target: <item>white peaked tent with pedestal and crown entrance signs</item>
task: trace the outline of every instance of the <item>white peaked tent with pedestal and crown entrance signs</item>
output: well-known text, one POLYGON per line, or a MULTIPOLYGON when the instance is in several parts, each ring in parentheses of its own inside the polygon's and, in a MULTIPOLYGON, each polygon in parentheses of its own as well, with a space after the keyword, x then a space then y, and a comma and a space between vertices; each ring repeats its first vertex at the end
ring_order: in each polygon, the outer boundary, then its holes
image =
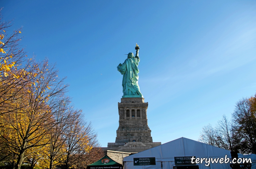
MULTIPOLYGON (((173 169, 173 166, 175 166, 174 157, 195 156, 196 158, 225 158, 225 155, 227 155, 227 158, 231 159, 230 151, 228 150, 181 137, 160 146, 127 156, 123 158, 123 161, 124 169, 173 169), (156 165, 133 165, 133 158, 146 157, 155 157, 156 165)), ((243 155, 239 154, 238 157, 243 158, 243 155)), ((199 166, 199 169, 231 169, 230 163, 210 163, 209 166, 205 166, 204 164, 205 161, 203 164, 199 163, 196 165, 199 166)))

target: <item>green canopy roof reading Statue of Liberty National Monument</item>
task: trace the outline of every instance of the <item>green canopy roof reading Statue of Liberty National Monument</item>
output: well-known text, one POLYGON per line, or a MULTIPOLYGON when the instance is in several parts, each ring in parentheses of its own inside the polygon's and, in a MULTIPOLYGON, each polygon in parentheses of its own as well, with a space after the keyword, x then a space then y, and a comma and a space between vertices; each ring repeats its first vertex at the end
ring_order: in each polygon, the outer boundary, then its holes
POLYGON ((123 165, 109 158, 107 155, 102 157, 100 160, 87 165, 87 169, 123 169, 123 165))

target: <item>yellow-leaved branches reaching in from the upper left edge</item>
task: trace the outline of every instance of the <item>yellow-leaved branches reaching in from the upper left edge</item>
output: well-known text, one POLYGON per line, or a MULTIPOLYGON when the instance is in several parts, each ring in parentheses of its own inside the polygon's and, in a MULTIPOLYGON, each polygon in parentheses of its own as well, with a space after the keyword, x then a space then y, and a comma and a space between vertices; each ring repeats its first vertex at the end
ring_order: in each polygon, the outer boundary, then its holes
POLYGON ((22 29, 9 31, 10 22, 2 21, 0 9, 0 115, 21 107, 12 107, 12 102, 23 97, 20 92, 35 80, 37 68, 33 58, 27 58, 20 46, 22 29))

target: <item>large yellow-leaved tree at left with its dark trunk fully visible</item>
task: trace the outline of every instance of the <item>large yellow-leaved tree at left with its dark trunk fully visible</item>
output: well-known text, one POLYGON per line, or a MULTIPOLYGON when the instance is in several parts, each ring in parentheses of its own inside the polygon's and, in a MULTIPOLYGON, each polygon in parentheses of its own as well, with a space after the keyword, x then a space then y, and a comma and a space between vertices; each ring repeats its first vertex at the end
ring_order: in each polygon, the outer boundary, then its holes
POLYGON ((25 158, 49 143, 54 113, 66 98, 67 85, 63 84, 64 79, 58 78, 54 65, 48 65, 45 60, 38 63, 34 71, 35 81, 20 90, 23 96, 8 102, 17 109, 3 114, 3 126, 0 128, 6 146, 17 155, 15 169, 20 168, 25 158))

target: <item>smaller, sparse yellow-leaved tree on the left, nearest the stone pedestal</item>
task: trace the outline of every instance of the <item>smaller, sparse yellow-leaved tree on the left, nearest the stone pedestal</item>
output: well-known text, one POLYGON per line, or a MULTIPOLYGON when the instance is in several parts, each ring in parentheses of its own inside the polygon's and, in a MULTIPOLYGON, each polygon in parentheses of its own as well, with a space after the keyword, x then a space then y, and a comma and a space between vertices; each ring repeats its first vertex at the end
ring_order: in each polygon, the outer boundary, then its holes
POLYGON ((65 154, 61 158, 61 164, 65 169, 81 164, 94 146, 98 144, 97 134, 92 124, 83 120, 80 110, 73 110, 73 118, 65 130, 65 154))

